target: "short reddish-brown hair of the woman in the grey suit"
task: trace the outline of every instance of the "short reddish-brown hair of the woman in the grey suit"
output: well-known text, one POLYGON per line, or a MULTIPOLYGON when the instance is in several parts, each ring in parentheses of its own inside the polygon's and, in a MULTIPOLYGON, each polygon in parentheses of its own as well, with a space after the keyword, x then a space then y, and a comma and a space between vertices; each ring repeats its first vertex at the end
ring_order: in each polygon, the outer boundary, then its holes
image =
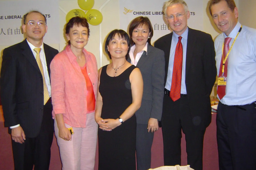
POLYGON ((137 27, 143 26, 143 25, 147 26, 148 30, 150 30, 150 38, 147 39, 147 42, 149 44, 151 44, 151 39, 153 37, 153 27, 152 27, 151 21, 150 21, 150 19, 148 19, 148 17, 139 16, 137 18, 134 18, 132 20, 132 22, 130 23, 129 35, 131 37, 131 45, 134 45, 134 42, 132 39, 133 30, 136 29, 137 27))

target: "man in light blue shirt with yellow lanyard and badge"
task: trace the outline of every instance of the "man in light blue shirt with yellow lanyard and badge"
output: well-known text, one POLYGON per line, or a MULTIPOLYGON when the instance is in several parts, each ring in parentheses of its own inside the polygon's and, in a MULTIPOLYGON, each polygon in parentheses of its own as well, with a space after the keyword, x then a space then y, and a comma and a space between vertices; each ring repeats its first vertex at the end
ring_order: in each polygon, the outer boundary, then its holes
POLYGON ((256 169, 256 30, 238 22, 233 0, 211 0, 223 32, 215 40, 220 170, 256 169))

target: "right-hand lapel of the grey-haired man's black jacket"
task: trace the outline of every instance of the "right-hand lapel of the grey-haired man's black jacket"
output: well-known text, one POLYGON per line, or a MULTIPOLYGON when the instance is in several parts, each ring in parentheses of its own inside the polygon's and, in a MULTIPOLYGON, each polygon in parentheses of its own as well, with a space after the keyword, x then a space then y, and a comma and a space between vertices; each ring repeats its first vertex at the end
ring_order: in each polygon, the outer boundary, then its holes
POLYGON ((188 71, 190 70, 190 63, 193 60, 193 51, 195 51, 194 46, 196 44, 196 37, 194 37, 193 30, 188 28, 187 34, 187 52, 186 52, 186 76, 188 75, 188 71))

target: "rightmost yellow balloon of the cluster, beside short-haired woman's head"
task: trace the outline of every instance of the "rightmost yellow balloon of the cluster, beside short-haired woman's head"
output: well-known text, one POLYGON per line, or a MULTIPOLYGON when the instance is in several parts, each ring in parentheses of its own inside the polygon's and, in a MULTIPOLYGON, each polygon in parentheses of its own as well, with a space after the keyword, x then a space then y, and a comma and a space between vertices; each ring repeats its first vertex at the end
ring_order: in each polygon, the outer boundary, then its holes
POLYGON ((96 9, 91 9, 86 13, 86 19, 90 25, 97 26, 102 22, 103 16, 96 9))

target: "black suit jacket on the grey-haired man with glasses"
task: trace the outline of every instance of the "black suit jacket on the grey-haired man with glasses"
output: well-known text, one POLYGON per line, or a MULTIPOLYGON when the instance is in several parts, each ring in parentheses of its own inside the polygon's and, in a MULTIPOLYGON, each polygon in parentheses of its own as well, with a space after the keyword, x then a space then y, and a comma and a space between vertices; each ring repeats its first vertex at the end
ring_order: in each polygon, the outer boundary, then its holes
MULTIPOLYGON (((170 45, 173 33, 159 38, 155 47, 164 51, 165 81, 167 77, 170 45)), ((176 44, 174 44, 176 45, 176 44)), ((216 80, 214 41, 211 35, 188 28, 185 84, 191 118, 200 129, 205 129, 211 122, 209 95, 216 80)))

